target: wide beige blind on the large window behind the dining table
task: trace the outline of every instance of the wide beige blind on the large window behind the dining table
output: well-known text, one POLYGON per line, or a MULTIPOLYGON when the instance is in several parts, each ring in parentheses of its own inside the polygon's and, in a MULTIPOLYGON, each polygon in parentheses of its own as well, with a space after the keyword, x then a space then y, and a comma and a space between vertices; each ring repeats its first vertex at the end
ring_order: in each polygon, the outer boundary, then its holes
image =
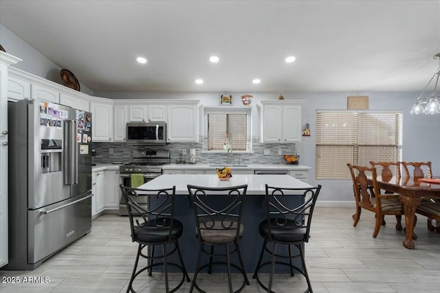
POLYGON ((347 163, 401 161, 401 112, 317 111, 316 179, 350 180, 347 163))

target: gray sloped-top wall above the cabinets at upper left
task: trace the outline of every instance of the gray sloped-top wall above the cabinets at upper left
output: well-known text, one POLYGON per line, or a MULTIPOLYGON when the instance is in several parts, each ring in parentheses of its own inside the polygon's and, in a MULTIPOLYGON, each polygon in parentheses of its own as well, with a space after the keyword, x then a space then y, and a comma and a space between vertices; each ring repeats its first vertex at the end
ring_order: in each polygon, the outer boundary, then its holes
MULTIPOLYGON (((43 56, 39 51, 36 51, 36 49, 28 45, 28 43, 25 43, 3 25, 0 25, 0 44, 6 53, 23 60, 16 65, 12 65, 12 67, 61 84, 61 67, 56 65, 49 58, 43 56)), ((80 78, 78 78, 78 80, 80 80, 80 78)), ((81 82, 80 88, 81 92, 87 93, 87 95, 94 95, 94 92, 81 82)))

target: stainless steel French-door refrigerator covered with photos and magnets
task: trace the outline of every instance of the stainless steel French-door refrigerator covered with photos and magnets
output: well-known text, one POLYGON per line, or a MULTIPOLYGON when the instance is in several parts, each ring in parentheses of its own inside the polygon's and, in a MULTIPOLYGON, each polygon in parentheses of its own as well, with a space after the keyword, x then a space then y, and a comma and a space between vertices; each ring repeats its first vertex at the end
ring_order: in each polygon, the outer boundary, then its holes
POLYGON ((91 113, 8 102, 9 263, 34 270, 91 229, 91 113))

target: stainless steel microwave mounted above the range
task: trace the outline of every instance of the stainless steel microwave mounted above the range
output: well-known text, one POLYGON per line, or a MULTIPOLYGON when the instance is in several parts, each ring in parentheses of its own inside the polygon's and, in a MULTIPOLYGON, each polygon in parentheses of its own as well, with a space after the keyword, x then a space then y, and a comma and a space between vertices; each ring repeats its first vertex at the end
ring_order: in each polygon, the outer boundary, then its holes
POLYGON ((145 145, 165 145, 166 123, 129 122, 126 124, 126 141, 145 145))

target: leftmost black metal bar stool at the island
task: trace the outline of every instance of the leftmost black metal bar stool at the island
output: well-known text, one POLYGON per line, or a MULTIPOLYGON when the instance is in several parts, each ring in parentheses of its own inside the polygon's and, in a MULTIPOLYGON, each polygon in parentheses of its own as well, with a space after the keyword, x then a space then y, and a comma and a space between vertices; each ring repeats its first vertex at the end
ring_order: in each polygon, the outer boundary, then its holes
POLYGON ((190 277, 186 272, 178 242, 179 237, 183 233, 184 226, 179 220, 174 218, 175 186, 168 189, 137 189, 120 185, 120 189, 122 190, 122 196, 124 196, 129 213, 131 239, 139 244, 135 266, 126 292, 135 292, 133 289, 134 279, 145 270, 149 270, 149 275, 151 276, 151 272, 156 266, 163 266, 166 293, 177 291, 185 279, 187 282, 190 281, 190 277), (155 202, 158 203, 153 207, 149 204, 150 201, 148 200, 148 204, 141 206, 135 200, 139 196, 155 196, 155 202), (170 251, 168 251, 167 247, 169 244, 174 245, 170 251), (162 255, 155 256, 155 246, 162 246, 162 255), (152 250, 151 254, 148 253, 149 248, 152 250), (144 249, 146 250, 145 253, 144 249), (175 253, 176 250, 180 259, 179 264, 167 261, 167 257, 175 253), (148 264, 144 268, 137 270, 140 257, 147 259, 148 264), (155 262, 158 259, 159 262, 155 262), (174 266, 182 272, 180 283, 171 290, 168 286, 168 266, 174 266))

